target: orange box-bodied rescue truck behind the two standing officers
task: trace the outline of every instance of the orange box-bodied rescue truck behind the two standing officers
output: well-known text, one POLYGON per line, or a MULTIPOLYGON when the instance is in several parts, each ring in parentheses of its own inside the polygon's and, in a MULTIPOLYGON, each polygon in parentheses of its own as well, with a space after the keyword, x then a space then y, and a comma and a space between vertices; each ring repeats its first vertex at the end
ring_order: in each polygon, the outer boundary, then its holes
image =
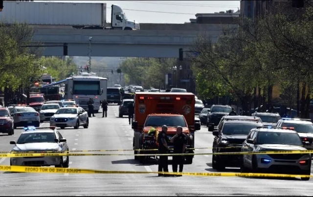
MULTIPOLYGON (((145 136, 148 136, 152 128, 161 132, 163 125, 168 127, 169 140, 176 134, 176 128, 181 126, 183 133, 188 137, 186 153, 194 153, 195 131, 200 130, 201 125, 195 122, 195 95, 193 93, 135 92, 134 97, 134 122, 132 123, 134 154, 147 153, 143 146, 145 136)), ((174 147, 170 142, 168 146, 174 147)), ((185 156, 186 163, 191 164, 193 157, 194 155, 185 156)), ((140 162, 142 158, 143 156, 135 156, 135 160, 140 162)))

